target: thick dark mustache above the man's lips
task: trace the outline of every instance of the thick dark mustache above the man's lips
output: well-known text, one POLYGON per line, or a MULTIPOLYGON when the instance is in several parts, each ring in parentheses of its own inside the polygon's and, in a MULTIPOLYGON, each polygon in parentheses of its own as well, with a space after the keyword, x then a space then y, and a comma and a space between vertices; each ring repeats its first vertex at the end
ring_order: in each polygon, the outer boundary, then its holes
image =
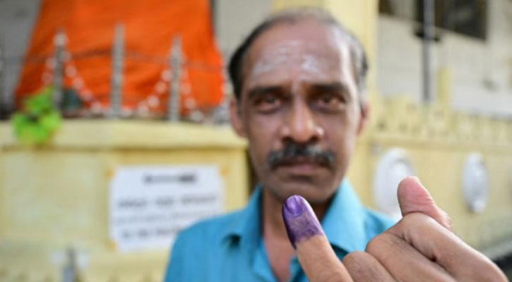
POLYGON ((274 169, 284 164, 290 164, 298 158, 308 159, 320 166, 332 167, 335 161, 335 153, 312 144, 287 142, 282 149, 268 153, 267 163, 270 168, 274 169))

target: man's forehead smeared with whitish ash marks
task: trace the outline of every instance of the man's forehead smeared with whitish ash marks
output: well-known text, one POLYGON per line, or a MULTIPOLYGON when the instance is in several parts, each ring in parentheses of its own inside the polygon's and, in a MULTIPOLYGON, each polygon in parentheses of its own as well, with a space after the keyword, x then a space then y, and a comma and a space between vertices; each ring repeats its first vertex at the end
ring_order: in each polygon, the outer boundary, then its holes
POLYGON ((242 71, 249 84, 297 75, 344 80, 344 75, 352 76, 349 53, 345 37, 334 25, 315 20, 278 23, 255 40, 242 71))

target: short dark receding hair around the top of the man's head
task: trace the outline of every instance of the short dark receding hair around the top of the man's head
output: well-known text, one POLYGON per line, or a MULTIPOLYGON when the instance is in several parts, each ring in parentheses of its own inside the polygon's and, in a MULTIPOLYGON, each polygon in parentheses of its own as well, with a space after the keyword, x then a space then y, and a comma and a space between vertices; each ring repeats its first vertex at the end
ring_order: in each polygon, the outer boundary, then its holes
POLYGON ((364 94, 365 92, 365 80, 368 72, 368 61, 367 55, 364 52, 364 48, 359 42, 359 39, 352 34, 352 32, 348 31, 343 27, 343 25, 338 22, 330 13, 321 9, 321 8, 292 8, 287 9, 285 11, 280 11, 278 13, 273 14, 272 16, 263 20, 248 37, 239 45, 239 47, 234 51, 230 59, 230 63, 228 65, 228 73, 231 78, 231 82, 233 85, 234 95, 238 99, 242 94, 242 85, 244 84, 243 79, 243 66, 244 59, 249 51, 251 45, 256 41, 256 39, 266 30, 269 30, 270 27, 281 23, 294 24, 299 23, 302 20, 317 20, 319 23, 326 23, 327 25, 333 25, 338 27, 338 30, 342 35, 346 38, 346 43, 350 49, 350 58, 352 59, 352 65, 355 71, 355 80, 357 82, 357 87, 360 94, 364 94))

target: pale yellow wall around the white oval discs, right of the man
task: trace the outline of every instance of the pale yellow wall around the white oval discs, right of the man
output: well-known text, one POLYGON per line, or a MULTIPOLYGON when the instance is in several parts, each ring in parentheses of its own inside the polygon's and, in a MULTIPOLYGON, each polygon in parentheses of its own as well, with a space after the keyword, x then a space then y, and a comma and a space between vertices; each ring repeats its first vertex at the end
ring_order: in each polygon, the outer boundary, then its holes
POLYGON ((511 252, 512 122, 443 109, 417 106, 406 97, 388 99, 369 135, 359 140, 349 178, 362 201, 374 206, 376 163, 388 149, 403 148, 460 237, 491 257, 511 252), (479 213, 470 211, 462 192, 463 166, 471 152, 482 154, 489 173, 489 200, 479 213))

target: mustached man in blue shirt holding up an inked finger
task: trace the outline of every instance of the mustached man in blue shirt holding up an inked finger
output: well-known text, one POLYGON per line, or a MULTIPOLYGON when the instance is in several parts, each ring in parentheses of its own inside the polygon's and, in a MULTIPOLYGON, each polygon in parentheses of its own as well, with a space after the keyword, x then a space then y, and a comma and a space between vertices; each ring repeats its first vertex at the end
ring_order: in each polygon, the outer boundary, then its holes
POLYGON ((400 183, 404 219, 395 226, 362 207, 344 176, 367 121, 367 63, 361 44, 328 13, 302 8, 268 18, 237 49, 229 71, 236 96, 232 126, 249 140, 260 185, 245 209, 178 236, 166 282, 453 281, 458 276, 449 280, 442 272, 453 267, 504 279, 482 255, 461 251, 469 247, 454 241, 448 217, 415 178, 400 183), (408 236, 410 228, 425 231, 426 238, 408 236), (455 258, 415 251, 429 243, 472 263, 443 268, 436 259, 455 258), (389 262, 391 255, 400 260, 389 262), (344 257, 349 259, 342 264, 344 257), (432 261, 435 266, 427 263, 432 261))

